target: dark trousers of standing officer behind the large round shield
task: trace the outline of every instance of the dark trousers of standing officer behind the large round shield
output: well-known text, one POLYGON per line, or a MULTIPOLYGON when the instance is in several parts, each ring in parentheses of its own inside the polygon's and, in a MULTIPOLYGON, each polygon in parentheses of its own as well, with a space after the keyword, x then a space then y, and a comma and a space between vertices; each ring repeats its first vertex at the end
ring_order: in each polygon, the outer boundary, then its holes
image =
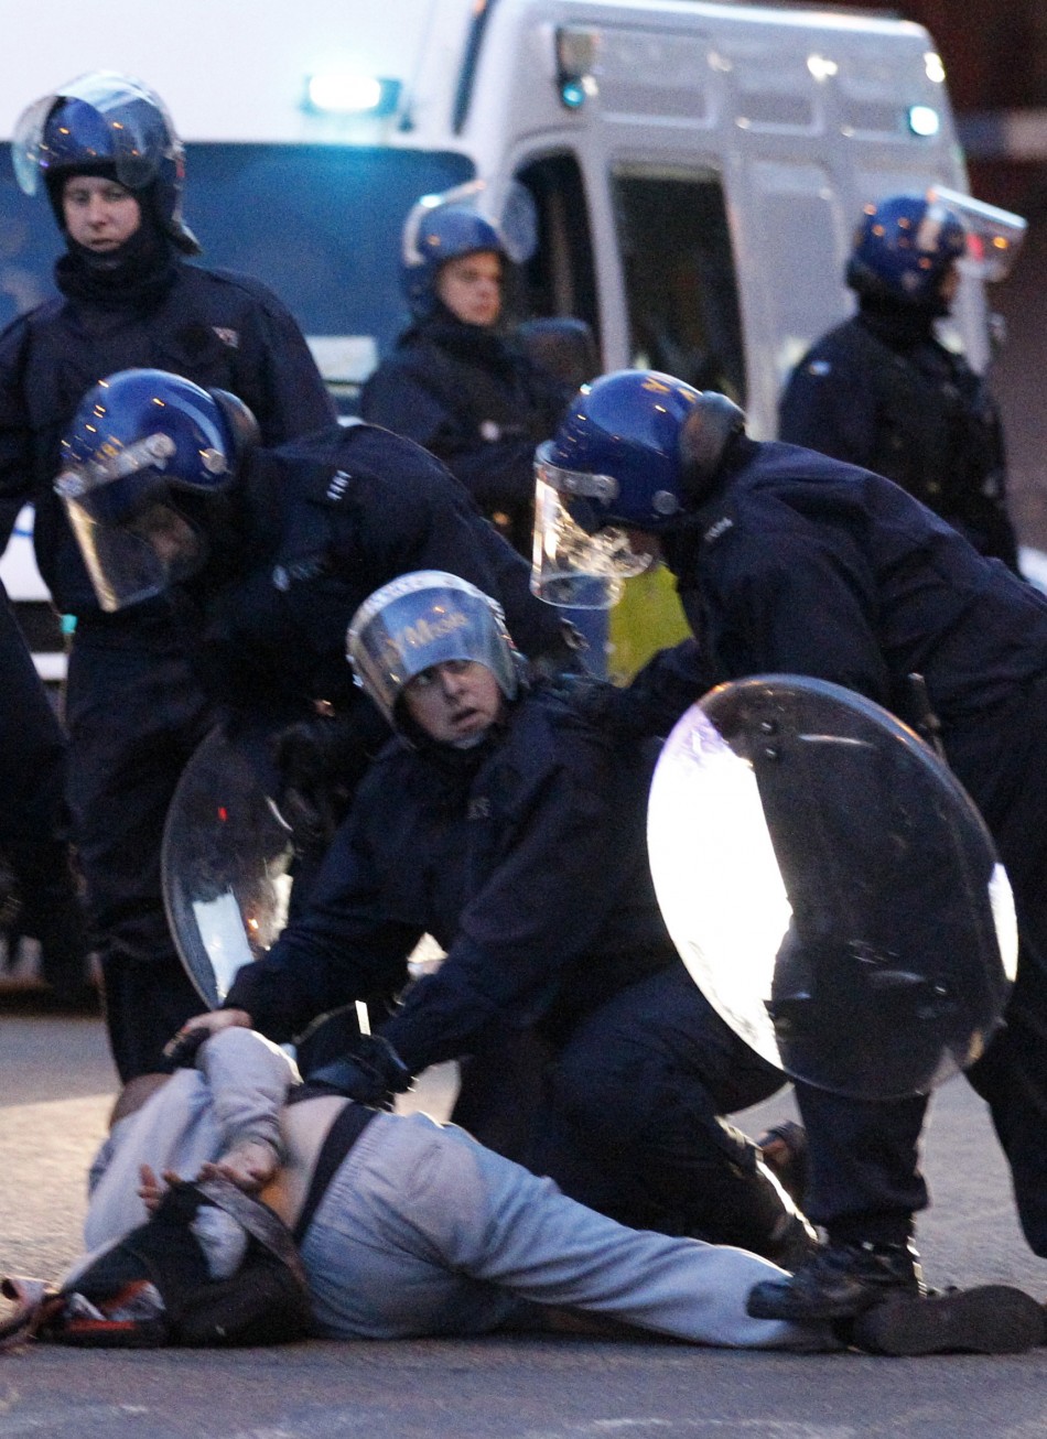
MULTIPOLYGON (((1047 1258, 1047 681, 948 734, 1015 895, 1021 950, 1004 1027, 968 1079, 989 1105, 1030 1248, 1047 1258)), ((808 1128, 806 1212, 842 1242, 894 1242, 927 1204, 917 1167, 926 1098, 845 1099, 796 1085, 808 1128)))

